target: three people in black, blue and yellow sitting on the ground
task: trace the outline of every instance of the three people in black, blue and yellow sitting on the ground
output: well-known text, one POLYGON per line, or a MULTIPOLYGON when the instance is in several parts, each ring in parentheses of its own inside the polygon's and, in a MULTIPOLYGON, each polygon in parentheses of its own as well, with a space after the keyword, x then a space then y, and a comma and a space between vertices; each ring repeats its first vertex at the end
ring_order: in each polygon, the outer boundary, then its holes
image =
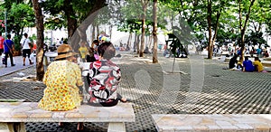
POLYGON ((238 54, 234 54, 234 56, 229 60, 229 69, 247 72, 262 72, 264 71, 264 66, 258 57, 255 57, 252 62, 248 59, 248 56, 246 56, 245 61, 240 62, 238 61, 238 54))

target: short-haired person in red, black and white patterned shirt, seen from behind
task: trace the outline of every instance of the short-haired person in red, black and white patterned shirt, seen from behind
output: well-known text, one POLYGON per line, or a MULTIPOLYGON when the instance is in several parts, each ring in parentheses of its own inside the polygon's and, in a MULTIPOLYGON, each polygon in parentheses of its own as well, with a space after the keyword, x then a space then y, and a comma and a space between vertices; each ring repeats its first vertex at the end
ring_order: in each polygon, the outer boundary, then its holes
POLYGON ((115 47, 111 42, 104 42, 98 46, 98 53, 99 60, 89 65, 89 103, 114 106, 121 98, 117 94, 121 72, 119 67, 110 61, 116 54, 115 47))

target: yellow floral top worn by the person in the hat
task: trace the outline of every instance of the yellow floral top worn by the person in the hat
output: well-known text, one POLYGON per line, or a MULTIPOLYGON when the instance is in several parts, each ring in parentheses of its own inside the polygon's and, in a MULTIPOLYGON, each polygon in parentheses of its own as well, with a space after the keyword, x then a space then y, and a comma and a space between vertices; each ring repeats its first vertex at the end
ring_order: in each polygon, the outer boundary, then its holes
POLYGON ((39 108, 50 111, 70 110, 80 106, 79 88, 83 84, 79 66, 70 61, 53 61, 43 77, 46 85, 39 108))

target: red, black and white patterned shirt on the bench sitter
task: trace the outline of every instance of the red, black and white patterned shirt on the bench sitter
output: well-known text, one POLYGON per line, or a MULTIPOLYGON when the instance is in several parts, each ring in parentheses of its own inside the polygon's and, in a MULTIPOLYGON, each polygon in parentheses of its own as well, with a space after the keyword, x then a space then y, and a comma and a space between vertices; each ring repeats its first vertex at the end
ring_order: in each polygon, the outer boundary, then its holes
POLYGON ((89 65, 90 103, 110 102, 117 99, 117 87, 121 72, 112 61, 101 60, 89 65))

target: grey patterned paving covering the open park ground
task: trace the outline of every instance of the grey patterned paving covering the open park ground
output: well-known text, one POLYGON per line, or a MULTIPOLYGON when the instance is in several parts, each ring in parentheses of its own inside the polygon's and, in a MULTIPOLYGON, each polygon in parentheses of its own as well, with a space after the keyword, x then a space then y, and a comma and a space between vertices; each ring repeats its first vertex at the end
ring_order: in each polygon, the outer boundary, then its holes
MULTIPOLYGON (((270 114, 271 74, 222 70, 228 64, 201 56, 176 59, 159 54, 138 58, 120 52, 115 59, 122 70, 119 92, 134 99, 135 123, 127 131, 155 131, 152 114, 270 114)), ((35 67, 24 69, 34 74, 35 67)), ((0 99, 39 101, 45 86, 41 82, 13 82, 17 72, 0 77, 0 99)), ((85 131, 106 131, 107 123, 84 123, 85 131)), ((75 131, 76 123, 27 123, 28 131, 75 131)))

